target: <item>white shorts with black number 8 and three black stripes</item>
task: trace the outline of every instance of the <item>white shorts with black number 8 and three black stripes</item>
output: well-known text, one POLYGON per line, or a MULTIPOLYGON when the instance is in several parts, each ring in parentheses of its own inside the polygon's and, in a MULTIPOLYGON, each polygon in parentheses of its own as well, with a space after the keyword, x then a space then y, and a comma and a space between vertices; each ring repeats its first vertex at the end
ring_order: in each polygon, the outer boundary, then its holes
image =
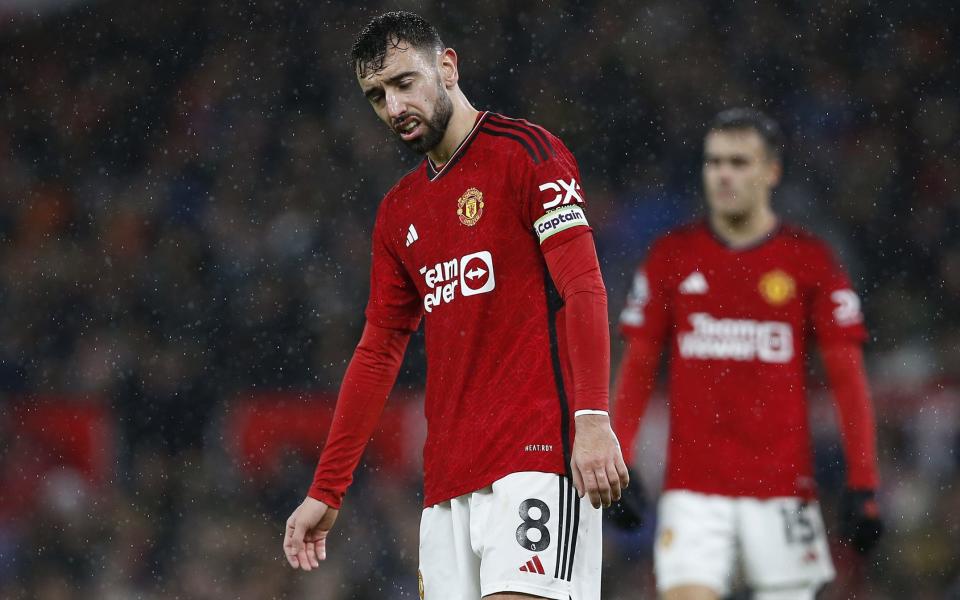
POLYGON ((424 509, 420 597, 599 600, 601 527, 600 510, 567 477, 512 473, 424 509))

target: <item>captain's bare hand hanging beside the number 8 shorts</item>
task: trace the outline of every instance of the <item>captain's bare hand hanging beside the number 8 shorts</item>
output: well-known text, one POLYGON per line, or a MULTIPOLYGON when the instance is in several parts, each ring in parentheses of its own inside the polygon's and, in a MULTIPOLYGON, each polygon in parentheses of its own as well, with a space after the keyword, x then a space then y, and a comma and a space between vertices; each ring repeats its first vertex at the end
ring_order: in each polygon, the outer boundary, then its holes
POLYGON ((576 417, 577 430, 570 457, 573 485, 580 497, 590 496, 594 508, 610 506, 630 483, 620 443, 610 429, 607 415, 576 417))

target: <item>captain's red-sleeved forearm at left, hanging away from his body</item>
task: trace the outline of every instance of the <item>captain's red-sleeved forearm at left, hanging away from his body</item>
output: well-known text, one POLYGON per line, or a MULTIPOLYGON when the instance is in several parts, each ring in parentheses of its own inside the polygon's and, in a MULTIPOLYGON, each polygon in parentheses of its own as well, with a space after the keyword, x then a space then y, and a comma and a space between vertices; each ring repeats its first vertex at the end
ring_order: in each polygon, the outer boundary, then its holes
POLYGON ((309 495, 339 508, 373 435, 410 333, 367 324, 347 367, 309 495))

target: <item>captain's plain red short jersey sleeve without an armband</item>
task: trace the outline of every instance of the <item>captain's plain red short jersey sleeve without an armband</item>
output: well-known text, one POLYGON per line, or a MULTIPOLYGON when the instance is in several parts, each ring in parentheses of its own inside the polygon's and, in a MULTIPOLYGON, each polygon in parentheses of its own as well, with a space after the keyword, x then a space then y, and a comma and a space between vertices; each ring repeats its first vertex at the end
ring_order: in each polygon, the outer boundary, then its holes
POLYGON ((385 206, 381 205, 373 227, 367 321, 387 329, 416 331, 423 314, 420 295, 394 251, 386 223, 385 206))

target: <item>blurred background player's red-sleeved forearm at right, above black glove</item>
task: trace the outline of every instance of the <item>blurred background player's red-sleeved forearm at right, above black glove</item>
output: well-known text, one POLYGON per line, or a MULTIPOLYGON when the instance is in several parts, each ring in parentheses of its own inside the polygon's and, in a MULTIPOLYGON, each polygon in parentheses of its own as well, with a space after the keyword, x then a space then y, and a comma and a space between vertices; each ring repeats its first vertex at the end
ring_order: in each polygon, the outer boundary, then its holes
POLYGON ((843 436, 847 484, 853 489, 875 489, 879 479, 876 424, 863 351, 856 344, 835 344, 824 347, 822 354, 843 436))

